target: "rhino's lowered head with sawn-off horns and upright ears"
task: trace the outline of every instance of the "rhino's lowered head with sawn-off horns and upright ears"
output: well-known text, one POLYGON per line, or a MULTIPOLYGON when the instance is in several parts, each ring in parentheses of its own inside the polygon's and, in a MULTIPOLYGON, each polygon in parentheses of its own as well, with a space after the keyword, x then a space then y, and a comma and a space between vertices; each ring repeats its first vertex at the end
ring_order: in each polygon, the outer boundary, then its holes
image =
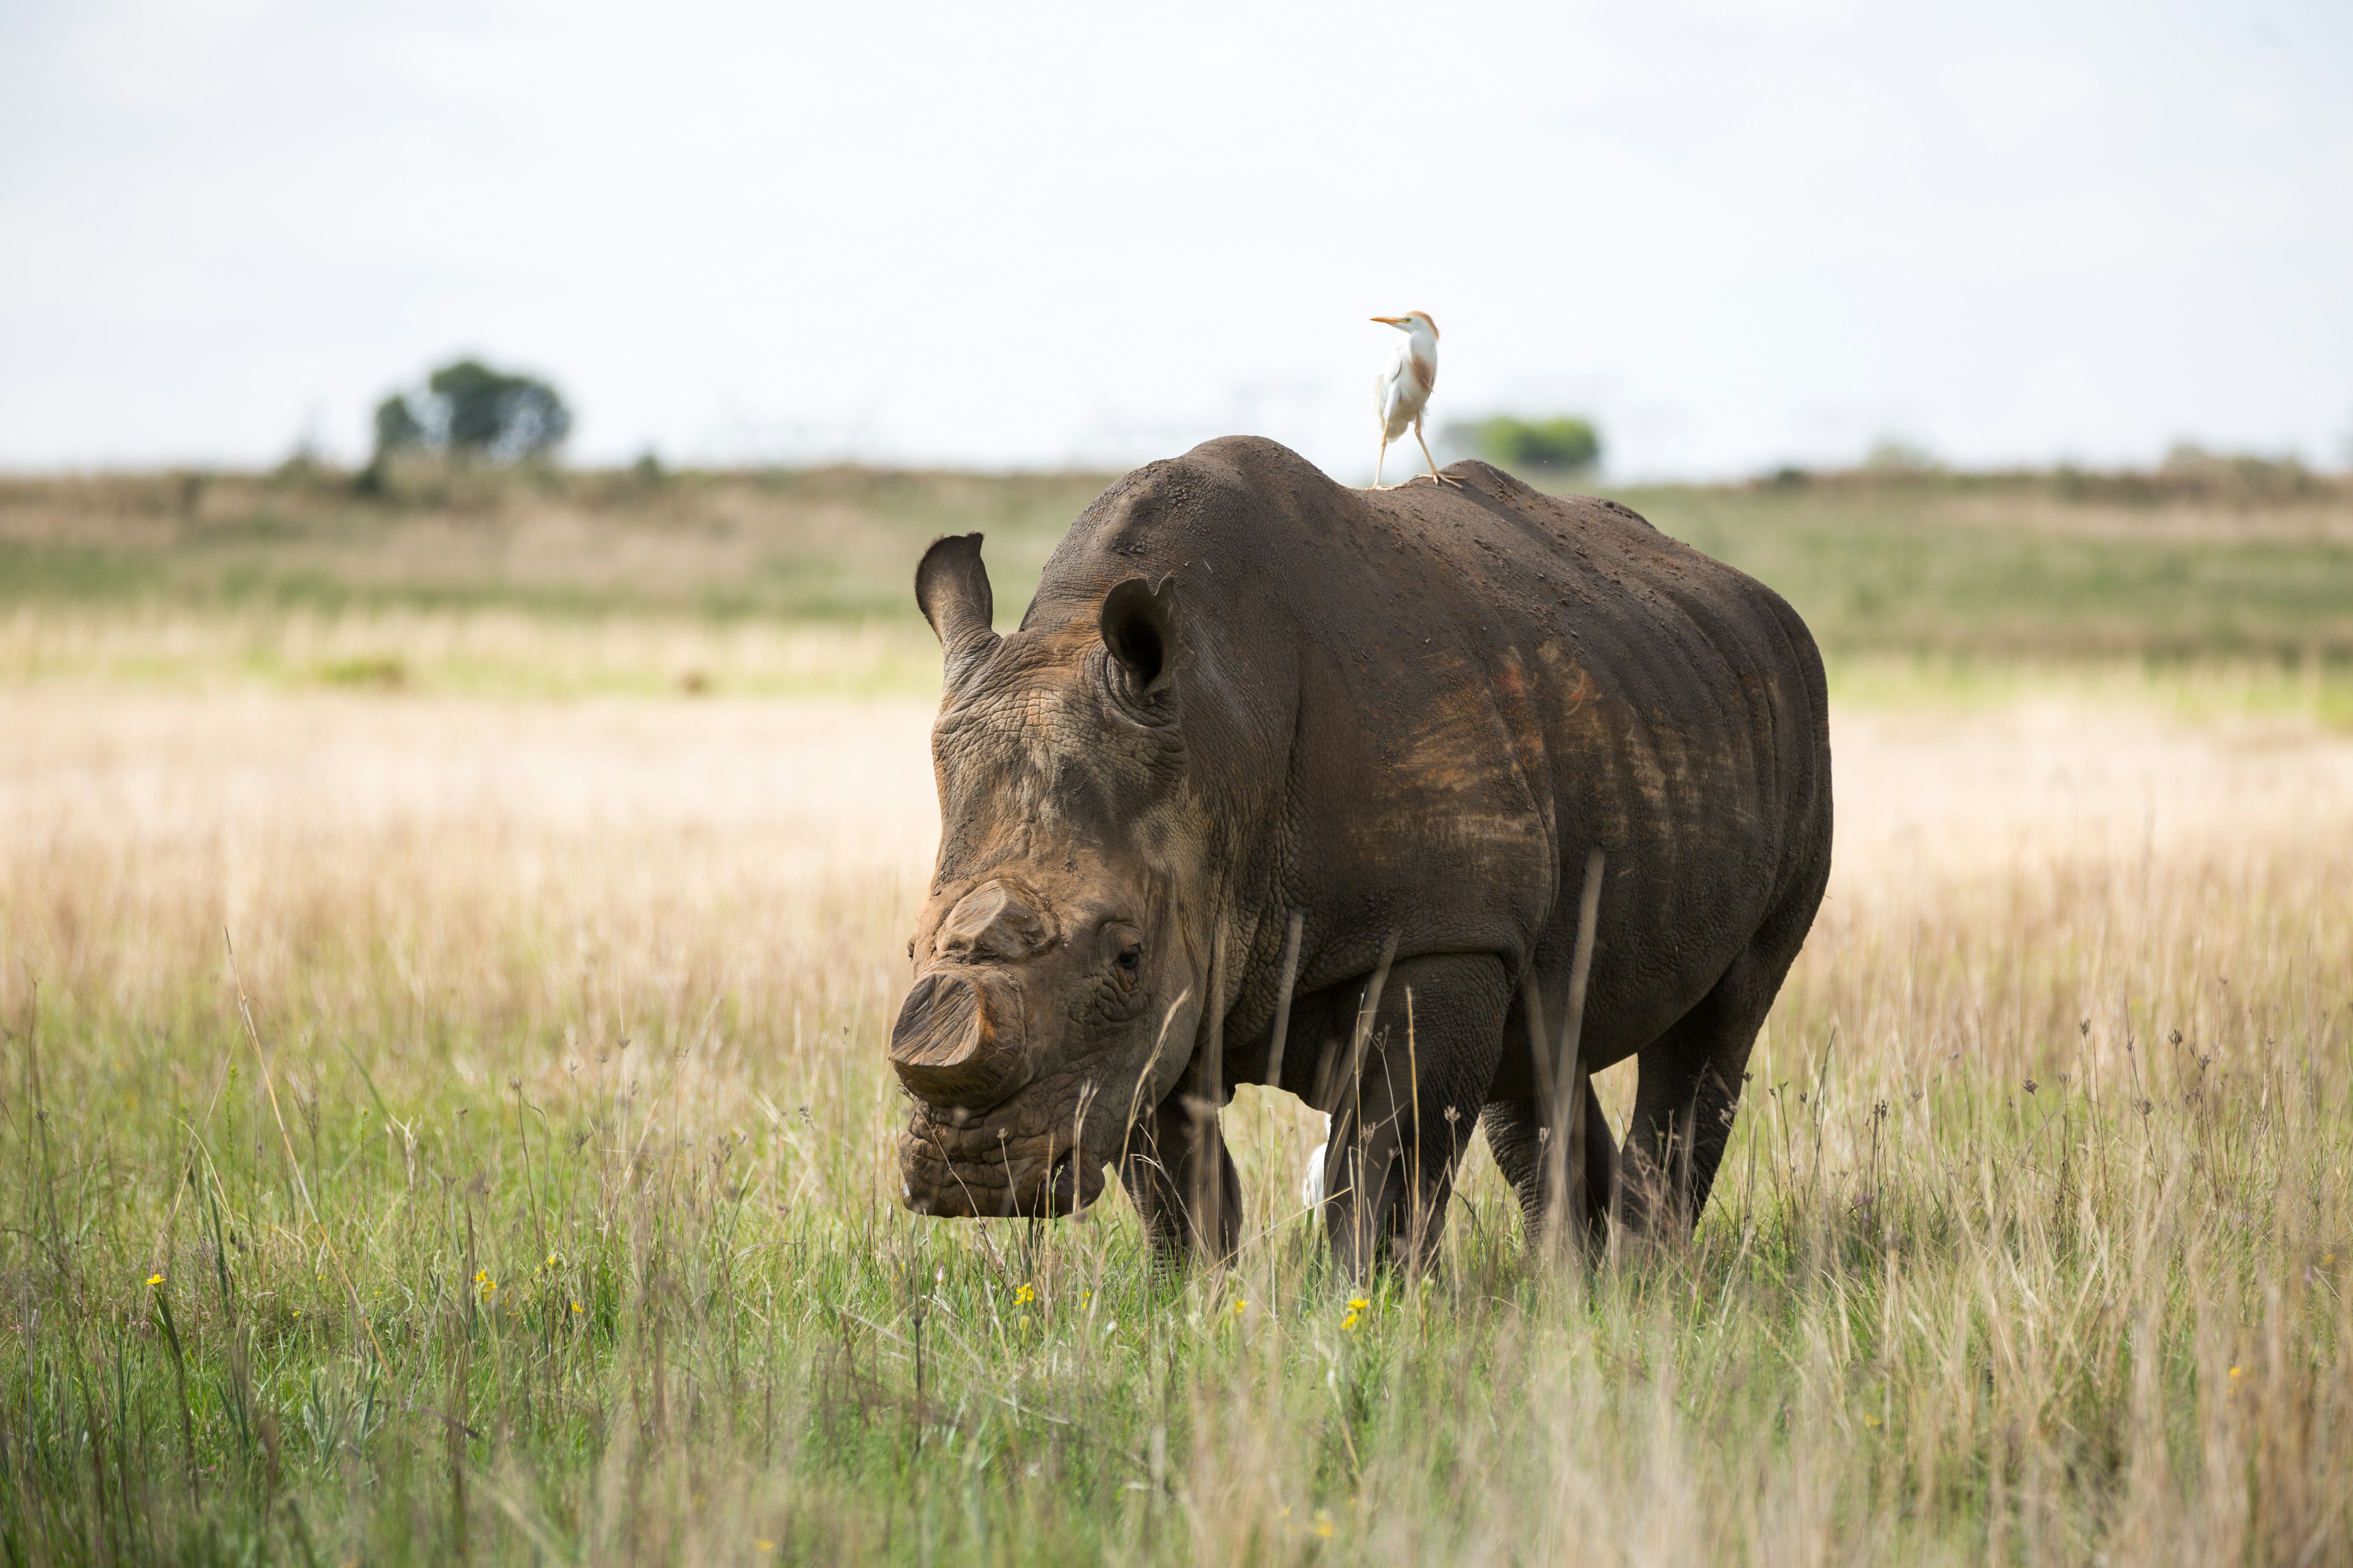
POLYGON ((946 656, 932 726, 941 844, 889 1060, 918 1213, 1071 1213, 1193 1056, 1205 832, 1186 820, 1176 592, 991 630, 981 536, 944 538, 915 599, 946 656))

